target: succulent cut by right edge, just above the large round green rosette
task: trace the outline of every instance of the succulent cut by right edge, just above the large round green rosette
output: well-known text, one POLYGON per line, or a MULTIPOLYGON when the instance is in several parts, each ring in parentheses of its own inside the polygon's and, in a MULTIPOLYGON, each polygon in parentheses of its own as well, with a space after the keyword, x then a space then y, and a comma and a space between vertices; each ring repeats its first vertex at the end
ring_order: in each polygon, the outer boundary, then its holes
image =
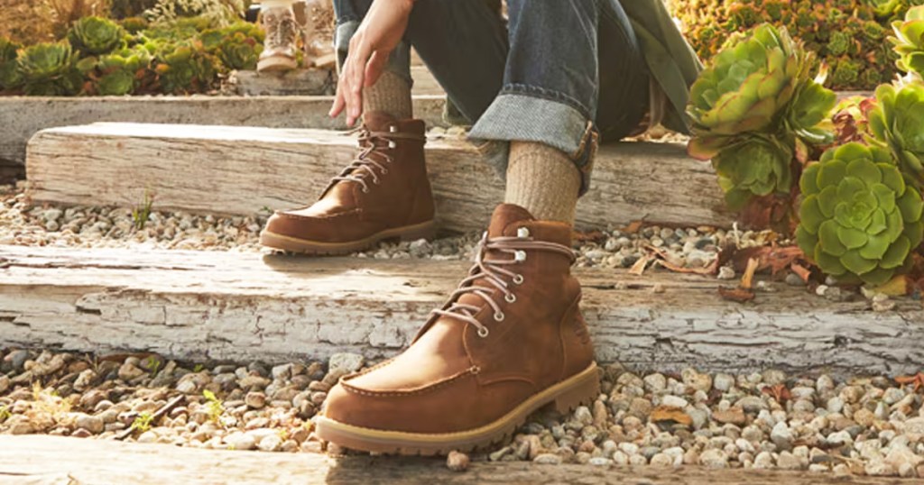
POLYGON ((911 184, 924 187, 924 85, 881 85, 868 116, 872 138, 894 153, 911 184))

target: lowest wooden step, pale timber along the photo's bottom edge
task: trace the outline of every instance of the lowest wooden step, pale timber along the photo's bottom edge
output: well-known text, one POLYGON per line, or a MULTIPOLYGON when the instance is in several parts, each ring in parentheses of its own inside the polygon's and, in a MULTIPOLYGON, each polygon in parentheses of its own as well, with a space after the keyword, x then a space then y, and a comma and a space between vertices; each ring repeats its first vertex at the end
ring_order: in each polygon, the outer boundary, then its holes
MULTIPOLYGON (((7 485, 619 483, 624 485, 885 485, 904 480, 701 467, 590 467, 473 462, 450 471, 440 458, 261 453, 178 448, 60 436, 0 436, 0 481, 7 485), (143 464, 143 465, 142 465, 143 464)), ((910 483, 908 481, 907 483, 910 483)))

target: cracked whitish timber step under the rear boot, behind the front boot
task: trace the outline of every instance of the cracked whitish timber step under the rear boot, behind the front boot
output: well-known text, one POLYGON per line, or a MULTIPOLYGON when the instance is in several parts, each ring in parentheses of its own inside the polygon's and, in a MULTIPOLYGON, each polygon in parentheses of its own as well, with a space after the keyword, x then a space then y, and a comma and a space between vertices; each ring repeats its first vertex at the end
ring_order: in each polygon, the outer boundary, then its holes
MULTIPOLYGON (((345 351, 384 358, 407 346, 467 269, 461 261, 0 246, 0 342, 193 360, 279 362, 345 351)), ((778 291, 739 304, 703 276, 602 269, 577 276, 601 361, 840 376, 924 367, 919 301, 873 312, 866 301, 832 302, 777 283, 778 291)))

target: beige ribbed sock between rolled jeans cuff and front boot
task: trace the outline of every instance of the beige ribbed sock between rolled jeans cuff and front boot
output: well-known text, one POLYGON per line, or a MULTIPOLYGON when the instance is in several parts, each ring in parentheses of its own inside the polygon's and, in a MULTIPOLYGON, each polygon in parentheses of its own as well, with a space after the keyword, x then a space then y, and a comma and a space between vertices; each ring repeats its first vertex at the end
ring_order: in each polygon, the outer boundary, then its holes
POLYGON ((541 221, 574 224, 581 176, 565 152, 545 143, 511 141, 505 202, 541 221))

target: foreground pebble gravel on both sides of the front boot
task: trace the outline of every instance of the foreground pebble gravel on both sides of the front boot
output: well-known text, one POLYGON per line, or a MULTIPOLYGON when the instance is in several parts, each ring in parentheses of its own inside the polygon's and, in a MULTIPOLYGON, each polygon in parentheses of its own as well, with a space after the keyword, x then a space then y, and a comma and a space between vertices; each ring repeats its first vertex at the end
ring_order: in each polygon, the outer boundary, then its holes
MULTIPOLYGON (((373 364, 353 354, 191 364, 10 348, 0 350, 0 433, 320 453, 311 418, 326 392, 373 364)), ((453 454, 448 466, 464 469, 470 459, 924 477, 924 408, 913 384, 779 370, 643 374, 619 364, 603 365, 601 382, 591 406, 540 411, 508 443, 453 454)))

